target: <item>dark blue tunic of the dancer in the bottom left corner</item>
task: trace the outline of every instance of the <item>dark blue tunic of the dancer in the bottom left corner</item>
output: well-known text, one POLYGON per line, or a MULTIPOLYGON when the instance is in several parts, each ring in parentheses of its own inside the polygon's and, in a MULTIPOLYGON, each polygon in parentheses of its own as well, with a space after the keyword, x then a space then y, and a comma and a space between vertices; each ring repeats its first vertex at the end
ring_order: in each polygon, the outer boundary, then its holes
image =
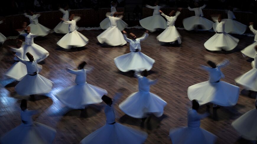
POLYGON ((21 115, 21 120, 23 121, 22 123, 25 125, 32 125, 33 120, 32 120, 32 115, 36 115, 38 113, 37 110, 22 110, 20 115, 21 115))

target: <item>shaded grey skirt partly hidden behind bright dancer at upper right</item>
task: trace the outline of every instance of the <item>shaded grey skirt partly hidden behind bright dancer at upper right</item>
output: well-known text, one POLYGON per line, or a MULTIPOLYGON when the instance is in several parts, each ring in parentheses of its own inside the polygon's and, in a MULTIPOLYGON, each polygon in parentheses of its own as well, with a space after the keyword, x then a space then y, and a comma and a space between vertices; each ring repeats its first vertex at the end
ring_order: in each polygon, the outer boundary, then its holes
MULTIPOLYGON (((238 21, 232 20, 232 19, 223 19, 222 21, 226 21, 225 22, 225 32, 226 33, 244 34, 247 29, 246 25, 244 25, 238 21)), ((213 29, 217 28, 218 23, 219 22, 215 22, 213 24, 213 29)))

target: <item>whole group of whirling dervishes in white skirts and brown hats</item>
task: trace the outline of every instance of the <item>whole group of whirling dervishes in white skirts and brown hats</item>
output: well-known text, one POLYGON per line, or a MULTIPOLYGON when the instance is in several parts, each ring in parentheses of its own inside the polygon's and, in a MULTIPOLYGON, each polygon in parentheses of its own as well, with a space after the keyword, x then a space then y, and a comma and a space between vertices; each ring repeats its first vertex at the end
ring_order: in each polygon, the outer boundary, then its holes
MULTIPOLYGON (((156 38, 160 42, 168 42, 181 44, 181 36, 175 27, 175 21, 182 12, 182 8, 177 11, 171 11, 165 15, 158 6, 158 1, 155 6, 146 5, 150 9, 154 9, 153 16, 141 19, 139 22, 142 27, 147 29, 144 34, 137 38, 133 33, 124 30, 128 25, 122 20, 123 12, 116 11, 116 3, 111 2, 111 12, 106 14, 106 19, 100 23, 100 27, 105 29, 97 40, 103 44, 110 46, 122 46, 129 43, 130 53, 114 58, 116 67, 122 72, 135 71, 134 76, 138 80, 138 92, 129 95, 123 102, 119 104, 119 108, 126 115, 134 118, 142 119, 142 125, 149 115, 161 117, 164 113, 164 107, 167 105, 161 97, 150 92, 150 86, 157 83, 156 80, 147 78, 148 71, 152 69, 155 62, 154 59, 148 57, 141 52, 141 41, 144 41, 149 36, 149 32, 154 32, 157 29, 165 29, 156 38), (167 21, 162 17, 165 17, 167 21)), ((204 47, 210 51, 230 51, 234 49, 239 40, 232 37, 228 33, 243 34, 247 27, 244 24, 235 21, 233 9, 227 12, 228 19, 223 19, 222 15, 212 16, 215 21, 212 22, 204 18, 202 9, 206 4, 199 6, 194 3, 195 8, 188 6, 188 10, 194 11, 195 16, 188 17, 183 20, 183 25, 186 30, 209 30, 214 29, 213 37, 204 43, 204 47)), ((54 28, 56 33, 65 34, 57 44, 64 49, 73 47, 83 47, 88 44, 89 39, 83 34, 77 32, 77 21, 79 16, 70 14, 68 8, 59 9, 64 15, 60 18, 61 22, 54 28)), ((30 24, 22 25, 19 30, 20 35, 25 37, 25 44, 18 40, 16 47, 8 46, 11 51, 15 52, 15 63, 7 70, 6 76, 13 78, 18 82, 15 90, 18 95, 30 95, 33 99, 36 95, 45 94, 51 91, 53 82, 41 76, 39 73, 42 70, 42 65, 38 62, 46 59, 49 56, 43 47, 34 43, 34 37, 43 37, 50 32, 50 29, 39 24, 38 17, 40 14, 34 14, 32 11, 27 11, 25 17, 30 19, 30 24)), ((0 24, 3 21, 0 21, 0 24)), ((252 69, 235 78, 235 83, 241 85, 245 89, 257 91, 257 31, 250 23, 250 30, 255 34, 254 43, 243 49, 243 56, 253 58, 252 69)), ((0 33, 0 43, 3 44, 6 37, 0 33)), ((208 66, 201 68, 209 73, 209 80, 188 87, 188 98, 192 101, 192 107, 188 109, 187 119, 188 125, 179 128, 170 129, 169 137, 173 144, 213 144, 217 140, 217 136, 200 128, 201 119, 209 116, 207 111, 205 114, 198 114, 198 109, 201 105, 213 104, 213 109, 222 107, 231 107, 237 104, 240 94, 240 88, 236 85, 229 84, 221 79, 225 78, 221 69, 229 64, 229 60, 225 59, 219 64, 212 61, 207 61, 208 66)), ((147 139, 147 133, 116 123, 115 110, 113 104, 117 102, 121 93, 116 93, 114 98, 107 96, 107 90, 90 85, 87 83, 87 74, 93 71, 93 67, 87 67, 86 62, 78 65, 76 70, 66 69, 67 72, 76 75, 76 85, 70 86, 58 92, 55 96, 64 105, 72 109, 84 109, 89 104, 99 104, 105 102, 106 106, 104 113, 106 116, 106 124, 95 132, 87 135, 81 140, 81 144, 141 144, 147 139), (74 98, 75 96, 75 98, 74 98)), ((2 144, 51 144, 56 135, 56 130, 34 122, 32 115, 39 113, 39 110, 27 110, 27 100, 22 100, 21 108, 21 125, 1 136, 2 144), (15 137, 15 138, 14 138, 15 137)), ((257 140, 257 100, 255 108, 240 116, 232 122, 232 127, 245 139, 257 140)))

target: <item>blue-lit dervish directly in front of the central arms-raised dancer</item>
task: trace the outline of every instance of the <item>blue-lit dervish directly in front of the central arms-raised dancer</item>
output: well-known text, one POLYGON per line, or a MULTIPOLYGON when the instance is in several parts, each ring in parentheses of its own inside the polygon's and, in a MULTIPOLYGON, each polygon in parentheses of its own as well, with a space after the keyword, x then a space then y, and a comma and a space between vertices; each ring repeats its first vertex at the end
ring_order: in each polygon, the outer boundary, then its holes
POLYGON ((125 114, 143 120, 152 114, 161 117, 163 109, 167 105, 167 102, 162 100, 161 97, 150 92, 150 86, 154 85, 157 80, 150 80, 147 76, 147 70, 144 70, 142 75, 140 72, 135 72, 139 91, 132 93, 119 105, 119 108, 125 114))

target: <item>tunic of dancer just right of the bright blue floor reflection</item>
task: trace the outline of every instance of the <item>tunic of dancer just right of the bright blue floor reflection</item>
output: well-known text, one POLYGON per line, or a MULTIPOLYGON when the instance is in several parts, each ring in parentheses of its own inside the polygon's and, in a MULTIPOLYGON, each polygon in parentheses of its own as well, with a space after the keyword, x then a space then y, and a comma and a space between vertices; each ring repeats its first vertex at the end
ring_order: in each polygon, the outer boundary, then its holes
POLYGON ((91 70, 92 69, 67 69, 69 73, 76 75, 75 83, 77 85, 85 85, 87 83, 87 72, 90 72, 91 70))

